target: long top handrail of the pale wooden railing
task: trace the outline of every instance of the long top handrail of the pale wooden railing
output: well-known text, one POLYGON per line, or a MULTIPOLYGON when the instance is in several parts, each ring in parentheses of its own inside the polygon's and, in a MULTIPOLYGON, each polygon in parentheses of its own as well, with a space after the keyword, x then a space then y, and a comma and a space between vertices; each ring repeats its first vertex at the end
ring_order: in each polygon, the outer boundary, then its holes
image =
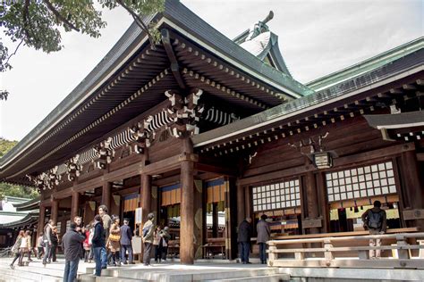
POLYGON ((293 243, 325 243, 326 241, 349 241, 349 240, 369 240, 369 239, 401 239, 401 238, 424 238, 424 232, 418 233, 398 233, 398 234, 382 234, 382 235, 365 235, 365 236, 327 236, 320 238, 308 239, 287 239, 287 240, 270 240, 267 245, 285 245, 293 243))

